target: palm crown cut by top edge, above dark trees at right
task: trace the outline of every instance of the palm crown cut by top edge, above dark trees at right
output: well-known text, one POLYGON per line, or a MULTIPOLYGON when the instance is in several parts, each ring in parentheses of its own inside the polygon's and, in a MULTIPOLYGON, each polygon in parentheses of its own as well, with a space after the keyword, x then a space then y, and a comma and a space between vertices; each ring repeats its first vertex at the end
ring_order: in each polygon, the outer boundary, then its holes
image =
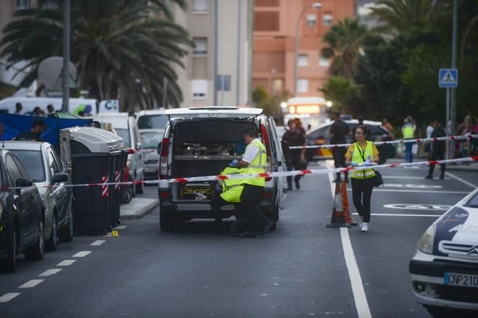
POLYGON ((427 30, 450 10, 450 0, 381 0, 372 8, 372 15, 381 22, 376 31, 397 35, 427 30))

